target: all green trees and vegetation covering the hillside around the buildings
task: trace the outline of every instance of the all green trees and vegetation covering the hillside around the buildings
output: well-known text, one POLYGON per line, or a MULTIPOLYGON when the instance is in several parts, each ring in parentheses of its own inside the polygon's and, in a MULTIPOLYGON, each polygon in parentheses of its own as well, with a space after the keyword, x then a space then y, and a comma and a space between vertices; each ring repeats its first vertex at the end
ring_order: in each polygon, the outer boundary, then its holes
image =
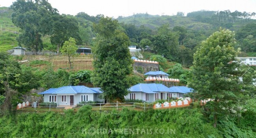
POLYGON ((229 10, 186 16, 138 13, 117 19, 84 12, 72 16, 60 15, 47 0, 17 0, 0 7, 0 137, 254 138, 255 69, 236 59, 256 56, 254 16, 229 10), (48 60, 21 62, 25 56, 7 53, 17 45, 33 53, 62 53, 69 67, 56 69, 48 60), (143 60, 159 62, 161 71, 180 79, 179 85, 193 88, 194 93, 186 95, 194 100, 191 106, 147 111, 94 111, 90 105, 61 112, 16 109, 17 102, 28 97, 40 99, 38 92, 67 85, 100 87, 108 102, 125 102, 129 87, 145 83, 139 70, 132 72, 128 45, 140 48, 143 60), (72 68, 78 46, 92 48, 92 71, 72 68), (198 103, 207 99, 206 105, 198 103), (130 132, 134 129, 139 132, 130 132))

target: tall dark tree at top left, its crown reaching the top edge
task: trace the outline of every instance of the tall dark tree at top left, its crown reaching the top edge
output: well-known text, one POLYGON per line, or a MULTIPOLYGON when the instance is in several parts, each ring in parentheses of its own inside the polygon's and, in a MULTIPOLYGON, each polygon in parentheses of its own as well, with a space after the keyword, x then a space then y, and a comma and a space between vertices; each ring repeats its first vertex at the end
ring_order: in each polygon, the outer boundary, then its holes
POLYGON ((22 30, 17 38, 19 44, 34 52, 42 50, 41 36, 49 31, 50 16, 57 14, 58 10, 47 0, 17 0, 11 9, 14 11, 12 22, 22 30))

